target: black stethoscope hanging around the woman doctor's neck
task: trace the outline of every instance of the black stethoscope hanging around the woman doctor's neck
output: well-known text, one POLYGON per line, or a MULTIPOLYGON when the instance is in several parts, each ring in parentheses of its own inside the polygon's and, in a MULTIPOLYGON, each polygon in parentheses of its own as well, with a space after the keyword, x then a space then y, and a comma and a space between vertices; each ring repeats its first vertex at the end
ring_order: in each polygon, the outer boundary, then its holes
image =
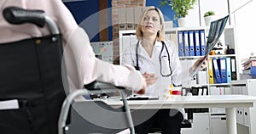
MULTIPOLYGON (((160 54, 159 54, 159 61, 160 61, 160 74, 164 77, 167 77, 167 76, 170 76, 172 75, 172 68, 171 68, 171 61, 170 61, 170 54, 169 54, 169 51, 166 47, 166 43, 161 41, 162 42, 162 48, 161 48, 161 51, 160 51, 160 54), (166 53, 167 53, 167 56, 168 56, 168 64, 169 64, 169 70, 170 70, 170 74, 168 75, 163 75, 162 73, 162 64, 161 64, 161 54, 163 53, 163 50, 164 50, 164 47, 166 48, 166 53)), ((136 66, 134 67, 136 70, 140 70, 140 66, 139 66, 139 62, 138 62, 138 54, 137 54, 137 49, 138 49, 138 46, 139 46, 139 41, 137 41, 137 47, 136 47, 136 66)), ((165 57, 165 56, 163 56, 165 57)))

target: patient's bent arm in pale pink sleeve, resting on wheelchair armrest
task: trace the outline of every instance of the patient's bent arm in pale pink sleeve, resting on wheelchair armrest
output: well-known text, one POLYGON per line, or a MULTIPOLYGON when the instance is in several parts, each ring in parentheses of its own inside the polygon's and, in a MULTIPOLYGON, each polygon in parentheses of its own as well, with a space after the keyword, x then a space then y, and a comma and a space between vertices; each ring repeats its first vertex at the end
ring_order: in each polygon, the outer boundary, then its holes
POLYGON ((69 37, 65 47, 65 58, 67 75, 76 88, 81 88, 92 81, 104 81, 118 87, 134 89, 138 93, 145 91, 143 76, 133 67, 109 64, 96 59, 89 38, 82 28, 73 31, 69 37), (140 89, 142 90, 139 92, 140 89))

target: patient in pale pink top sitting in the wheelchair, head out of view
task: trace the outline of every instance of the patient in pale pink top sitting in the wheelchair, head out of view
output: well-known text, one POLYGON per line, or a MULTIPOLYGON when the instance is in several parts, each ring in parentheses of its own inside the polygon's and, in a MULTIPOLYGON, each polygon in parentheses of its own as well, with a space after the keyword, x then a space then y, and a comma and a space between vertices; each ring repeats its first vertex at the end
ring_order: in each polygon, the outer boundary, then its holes
POLYGON ((3 19, 3 8, 17 6, 26 9, 41 9, 51 19, 55 20, 61 30, 70 90, 80 89, 84 84, 97 80, 110 82, 119 87, 134 89, 139 94, 145 92, 146 82, 143 76, 133 67, 108 64, 96 59, 87 34, 82 28, 79 28, 73 15, 61 0, 1 0, 0 5, 0 43, 20 41, 33 36, 49 35, 46 27, 38 28, 32 24, 10 25, 3 19))

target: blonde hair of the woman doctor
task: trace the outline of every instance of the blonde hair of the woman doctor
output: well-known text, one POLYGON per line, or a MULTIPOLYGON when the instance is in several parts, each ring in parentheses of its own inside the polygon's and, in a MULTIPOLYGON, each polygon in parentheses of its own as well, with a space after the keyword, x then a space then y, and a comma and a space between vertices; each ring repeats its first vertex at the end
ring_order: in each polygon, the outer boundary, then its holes
POLYGON ((137 36, 137 39, 141 39, 143 38, 143 31, 142 31, 142 25, 143 25, 143 19, 145 17, 145 15, 148 13, 148 11, 156 11, 159 16, 160 16, 160 25, 162 25, 162 28, 160 30, 160 33, 158 33, 158 36, 157 36, 157 40, 158 41, 164 41, 165 40, 165 20, 164 20, 164 16, 162 14, 162 12, 160 11, 159 8, 155 8, 154 6, 150 6, 150 7, 147 7, 144 11, 143 11, 143 14, 141 14, 140 16, 140 22, 139 24, 137 25, 137 29, 136 29, 136 36, 137 36))

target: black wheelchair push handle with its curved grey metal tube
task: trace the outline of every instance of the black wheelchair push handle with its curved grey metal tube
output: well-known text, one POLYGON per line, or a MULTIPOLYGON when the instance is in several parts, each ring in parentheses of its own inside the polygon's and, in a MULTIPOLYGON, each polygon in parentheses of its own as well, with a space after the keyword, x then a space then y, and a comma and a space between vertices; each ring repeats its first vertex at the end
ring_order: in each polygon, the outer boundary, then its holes
POLYGON ((55 21, 51 20, 43 10, 30 10, 18 7, 9 7, 3 9, 3 17, 10 24, 20 25, 24 23, 32 23, 38 27, 48 25, 52 35, 60 34, 58 26, 55 21))

